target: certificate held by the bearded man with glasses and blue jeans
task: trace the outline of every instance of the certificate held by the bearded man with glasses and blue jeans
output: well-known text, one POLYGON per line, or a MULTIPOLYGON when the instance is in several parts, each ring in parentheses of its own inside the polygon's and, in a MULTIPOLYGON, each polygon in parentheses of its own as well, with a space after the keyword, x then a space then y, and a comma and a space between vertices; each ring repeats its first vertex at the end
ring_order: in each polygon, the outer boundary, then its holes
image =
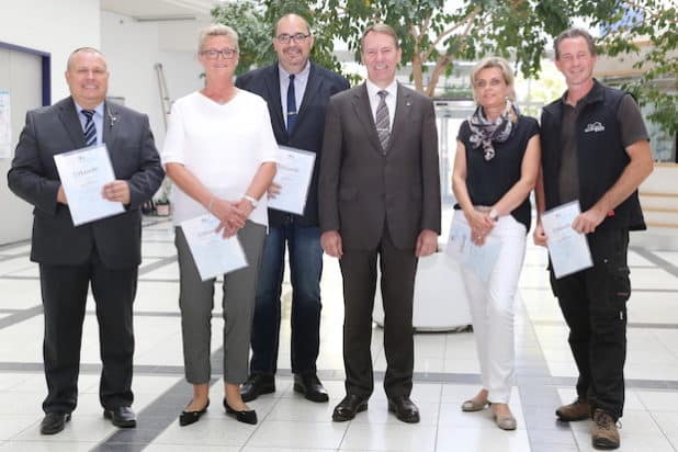
POLYGON ((280 146, 278 171, 273 182, 279 184, 281 189, 275 197, 269 197, 269 207, 304 215, 315 161, 315 152, 280 146))

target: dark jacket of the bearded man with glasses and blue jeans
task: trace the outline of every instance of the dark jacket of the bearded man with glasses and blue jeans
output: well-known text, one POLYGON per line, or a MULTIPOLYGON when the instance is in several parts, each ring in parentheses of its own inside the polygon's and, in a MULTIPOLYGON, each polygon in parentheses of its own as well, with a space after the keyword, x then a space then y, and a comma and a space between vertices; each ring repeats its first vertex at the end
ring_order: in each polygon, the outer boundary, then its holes
MULTIPOLYGON (((348 80, 312 63, 306 91, 304 91, 304 99, 292 136, 287 135, 287 127, 282 113, 278 63, 238 77, 236 86, 261 95, 268 102, 273 133, 279 145, 316 152, 316 163, 308 188, 304 216, 293 215, 293 217, 294 223, 300 226, 318 226, 318 168, 325 129, 325 111, 331 95, 349 89, 348 80)), ((272 227, 283 226, 285 217, 289 215, 292 214, 269 208, 269 225, 272 227)))

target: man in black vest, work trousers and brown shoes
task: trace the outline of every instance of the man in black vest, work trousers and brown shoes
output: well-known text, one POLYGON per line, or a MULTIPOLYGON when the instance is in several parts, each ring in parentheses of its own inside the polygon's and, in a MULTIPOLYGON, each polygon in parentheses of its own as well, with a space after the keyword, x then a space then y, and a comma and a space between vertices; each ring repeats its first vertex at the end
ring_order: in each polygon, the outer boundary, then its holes
POLYGON ((556 410, 561 420, 594 417, 595 448, 617 449, 623 414, 626 301, 631 295, 629 230, 645 229, 637 188, 653 161, 643 118, 633 98, 594 79, 596 47, 584 30, 554 43, 567 91, 542 113, 542 171, 536 184, 534 242, 546 245, 544 211, 578 200, 572 227, 586 234, 594 265, 551 286, 569 327, 579 371, 577 400, 556 410))

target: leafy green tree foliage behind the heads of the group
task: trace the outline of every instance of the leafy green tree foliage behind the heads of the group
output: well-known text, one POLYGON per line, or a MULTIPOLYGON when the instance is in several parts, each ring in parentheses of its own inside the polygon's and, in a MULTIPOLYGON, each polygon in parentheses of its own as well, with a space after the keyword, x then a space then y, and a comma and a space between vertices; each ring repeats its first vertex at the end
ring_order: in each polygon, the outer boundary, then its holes
MULTIPOLYGON (((428 95, 434 94, 441 77, 451 74, 453 61, 488 54, 510 57, 526 78, 535 77, 553 36, 578 19, 591 30, 606 31, 600 49, 611 56, 637 53, 634 43, 639 38, 651 41, 651 50, 635 64, 643 70, 642 78, 628 89, 641 104, 655 105, 651 120, 674 133, 678 129, 676 0, 262 0, 235 4, 257 11, 258 26, 268 30, 265 43, 253 49, 253 64, 273 60, 273 22, 287 12, 306 18, 316 36, 312 57, 335 69, 339 69, 332 55, 335 39, 347 42, 359 59, 362 31, 370 23, 385 22, 400 36, 403 64, 411 67, 415 89, 428 95), (674 80, 673 93, 671 87, 668 92, 660 89, 659 79, 674 80)), ((240 32, 248 27, 238 29, 238 21, 252 15, 230 18, 240 32)))

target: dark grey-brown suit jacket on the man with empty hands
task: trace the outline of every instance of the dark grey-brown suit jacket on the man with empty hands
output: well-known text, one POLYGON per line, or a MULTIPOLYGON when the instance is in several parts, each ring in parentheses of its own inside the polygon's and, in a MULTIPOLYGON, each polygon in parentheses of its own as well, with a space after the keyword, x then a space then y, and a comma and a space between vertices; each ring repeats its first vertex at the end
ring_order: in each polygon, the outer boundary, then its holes
POLYGON ((422 229, 440 234, 436 113, 430 99, 398 84, 384 155, 366 86, 331 98, 320 162, 320 230, 339 230, 344 249, 374 249, 384 222, 399 249, 422 229))

